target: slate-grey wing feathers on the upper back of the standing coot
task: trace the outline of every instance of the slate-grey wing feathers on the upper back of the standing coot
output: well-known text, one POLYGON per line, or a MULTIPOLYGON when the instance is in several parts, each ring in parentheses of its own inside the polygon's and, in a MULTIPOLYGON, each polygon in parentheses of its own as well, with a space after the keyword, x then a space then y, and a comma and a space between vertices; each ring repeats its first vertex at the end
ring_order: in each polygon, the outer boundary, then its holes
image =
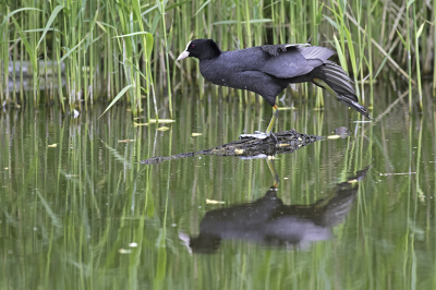
POLYGON ((280 78, 307 74, 335 55, 329 48, 307 45, 262 46, 261 49, 268 56, 261 71, 280 78))

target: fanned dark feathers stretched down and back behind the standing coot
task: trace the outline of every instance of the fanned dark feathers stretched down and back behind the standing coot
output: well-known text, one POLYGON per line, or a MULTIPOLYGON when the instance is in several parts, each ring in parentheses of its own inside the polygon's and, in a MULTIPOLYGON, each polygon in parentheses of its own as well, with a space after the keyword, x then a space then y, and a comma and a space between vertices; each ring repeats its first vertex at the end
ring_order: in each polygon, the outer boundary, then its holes
POLYGON ((359 104, 353 81, 340 65, 332 61, 327 61, 324 65, 313 70, 311 74, 316 85, 336 95, 340 102, 372 119, 366 108, 359 104))

